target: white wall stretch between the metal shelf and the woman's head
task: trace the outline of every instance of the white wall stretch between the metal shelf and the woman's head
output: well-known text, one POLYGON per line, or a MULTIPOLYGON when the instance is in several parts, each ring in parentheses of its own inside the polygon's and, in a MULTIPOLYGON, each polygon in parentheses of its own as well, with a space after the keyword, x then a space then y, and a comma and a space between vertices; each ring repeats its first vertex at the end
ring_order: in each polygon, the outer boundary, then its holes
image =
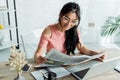
MULTIPOLYGON (((55 23, 61 7, 68 0, 16 0, 18 22, 22 32, 45 28, 55 23)), ((73 0, 69 0, 73 1, 73 0)))

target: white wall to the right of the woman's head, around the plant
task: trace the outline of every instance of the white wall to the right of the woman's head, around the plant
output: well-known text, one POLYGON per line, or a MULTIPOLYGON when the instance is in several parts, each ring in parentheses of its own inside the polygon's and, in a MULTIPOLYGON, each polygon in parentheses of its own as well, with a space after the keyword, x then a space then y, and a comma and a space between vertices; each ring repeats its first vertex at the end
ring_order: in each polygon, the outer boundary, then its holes
MULTIPOLYGON (((101 42, 101 26, 108 16, 120 14, 120 0, 81 0, 82 7, 82 37, 84 42, 101 42), (89 23, 94 23, 94 27, 89 27, 89 23)), ((115 36, 114 36, 115 37, 115 36)), ((118 37, 118 36, 117 36, 118 37)), ((104 42, 120 42, 120 39, 113 40, 110 38, 104 42)))

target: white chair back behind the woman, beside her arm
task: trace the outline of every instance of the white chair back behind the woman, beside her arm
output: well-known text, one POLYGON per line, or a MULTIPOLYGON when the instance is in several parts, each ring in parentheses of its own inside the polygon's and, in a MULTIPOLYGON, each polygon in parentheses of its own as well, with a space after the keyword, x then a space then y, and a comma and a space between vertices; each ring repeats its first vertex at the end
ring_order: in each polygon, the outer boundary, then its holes
POLYGON ((27 34, 21 34, 22 49, 26 54, 26 58, 33 58, 34 53, 38 47, 40 36, 43 29, 33 30, 27 34))

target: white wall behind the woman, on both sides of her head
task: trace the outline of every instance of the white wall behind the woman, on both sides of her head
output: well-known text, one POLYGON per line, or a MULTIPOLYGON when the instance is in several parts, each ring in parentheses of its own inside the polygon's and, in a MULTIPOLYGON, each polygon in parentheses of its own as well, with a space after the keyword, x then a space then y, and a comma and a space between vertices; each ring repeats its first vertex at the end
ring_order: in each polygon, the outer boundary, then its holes
POLYGON ((57 22, 60 9, 68 1, 76 1, 81 6, 80 28, 84 42, 100 42, 98 28, 107 16, 120 14, 120 0, 16 0, 20 34, 57 22), (89 27, 89 23, 94 23, 94 27, 89 27))

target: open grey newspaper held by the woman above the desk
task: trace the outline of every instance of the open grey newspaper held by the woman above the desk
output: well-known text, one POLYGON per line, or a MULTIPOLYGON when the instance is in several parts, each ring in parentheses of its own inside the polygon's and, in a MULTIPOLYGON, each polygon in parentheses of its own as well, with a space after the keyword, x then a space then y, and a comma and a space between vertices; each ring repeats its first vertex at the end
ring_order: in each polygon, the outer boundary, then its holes
POLYGON ((99 58, 102 55, 104 55, 103 52, 92 56, 89 55, 69 56, 64 53, 61 53, 60 51, 57 51, 56 49, 51 49, 46 55, 46 58, 48 59, 46 63, 53 65, 74 65, 99 58))

